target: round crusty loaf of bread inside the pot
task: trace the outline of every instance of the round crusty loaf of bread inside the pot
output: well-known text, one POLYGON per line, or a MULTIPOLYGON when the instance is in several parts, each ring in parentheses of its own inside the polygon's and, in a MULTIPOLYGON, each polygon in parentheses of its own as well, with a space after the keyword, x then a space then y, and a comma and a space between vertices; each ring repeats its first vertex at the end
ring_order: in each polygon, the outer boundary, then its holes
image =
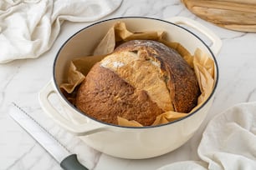
POLYGON ((163 112, 190 112, 199 94, 192 67, 177 51, 161 42, 132 40, 95 63, 75 105, 102 122, 117 124, 123 117, 150 126, 163 112))

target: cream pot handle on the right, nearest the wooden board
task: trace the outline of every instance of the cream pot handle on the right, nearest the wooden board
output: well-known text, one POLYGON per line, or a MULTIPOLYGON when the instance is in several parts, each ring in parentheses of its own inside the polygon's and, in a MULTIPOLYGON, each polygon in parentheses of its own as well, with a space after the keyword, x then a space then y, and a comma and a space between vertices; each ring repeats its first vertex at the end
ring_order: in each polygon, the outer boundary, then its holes
POLYGON ((183 17, 166 18, 165 20, 170 23, 184 24, 191 28, 196 29, 198 32, 201 32, 212 41, 210 49, 214 55, 218 55, 218 52, 220 51, 223 45, 222 40, 214 32, 203 26, 201 23, 197 23, 196 21, 190 18, 183 17))

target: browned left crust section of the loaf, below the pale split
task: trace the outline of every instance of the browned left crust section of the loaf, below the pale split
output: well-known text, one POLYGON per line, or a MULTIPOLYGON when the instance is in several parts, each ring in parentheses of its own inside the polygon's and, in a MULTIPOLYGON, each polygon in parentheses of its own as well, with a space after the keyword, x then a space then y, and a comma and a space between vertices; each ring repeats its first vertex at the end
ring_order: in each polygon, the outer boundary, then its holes
POLYGON ((117 124, 119 116, 149 126, 163 112, 145 91, 137 91, 99 62, 79 87, 76 106, 90 117, 112 124, 117 124))

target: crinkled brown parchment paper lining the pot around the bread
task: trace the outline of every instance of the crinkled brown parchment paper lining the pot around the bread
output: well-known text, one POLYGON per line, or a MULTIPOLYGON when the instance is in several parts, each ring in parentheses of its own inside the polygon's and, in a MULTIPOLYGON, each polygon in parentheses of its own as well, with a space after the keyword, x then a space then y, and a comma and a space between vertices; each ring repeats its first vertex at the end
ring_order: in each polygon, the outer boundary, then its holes
MULTIPOLYGON (((194 107, 191 112, 196 110, 207 100, 207 97, 212 92, 214 87, 214 62, 211 57, 202 52, 199 48, 193 55, 182 47, 180 43, 166 41, 166 32, 130 32, 125 27, 125 23, 115 23, 112 28, 106 33, 99 45, 95 48, 91 56, 77 57, 70 61, 67 82, 60 85, 60 89, 64 92, 65 97, 74 104, 77 87, 83 82, 84 77, 93 67, 95 62, 100 62, 107 54, 114 51, 115 47, 122 42, 134 39, 151 39, 163 42, 168 47, 172 47, 179 52, 187 63, 194 69, 197 75, 197 81, 201 90, 201 95, 197 99, 197 107, 194 107)), ((172 36, 172 35, 171 35, 172 36)), ((190 112, 189 112, 190 113, 190 112)), ((164 112, 158 117, 152 125, 159 125, 166 122, 172 122, 181 117, 187 116, 189 113, 183 112, 164 112)), ((117 117, 118 124, 126 127, 141 127, 139 122, 127 120, 123 117, 117 117)))

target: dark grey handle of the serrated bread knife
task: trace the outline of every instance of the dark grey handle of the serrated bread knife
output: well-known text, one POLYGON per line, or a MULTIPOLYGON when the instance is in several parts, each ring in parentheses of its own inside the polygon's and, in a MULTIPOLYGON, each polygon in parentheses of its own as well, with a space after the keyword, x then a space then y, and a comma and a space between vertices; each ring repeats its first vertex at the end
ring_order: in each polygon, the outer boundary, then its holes
POLYGON ((64 158, 60 163, 60 167, 64 170, 89 170, 85 168, 84 165, 79 163, 76 154, 69 155, 69 157, 64 158))

